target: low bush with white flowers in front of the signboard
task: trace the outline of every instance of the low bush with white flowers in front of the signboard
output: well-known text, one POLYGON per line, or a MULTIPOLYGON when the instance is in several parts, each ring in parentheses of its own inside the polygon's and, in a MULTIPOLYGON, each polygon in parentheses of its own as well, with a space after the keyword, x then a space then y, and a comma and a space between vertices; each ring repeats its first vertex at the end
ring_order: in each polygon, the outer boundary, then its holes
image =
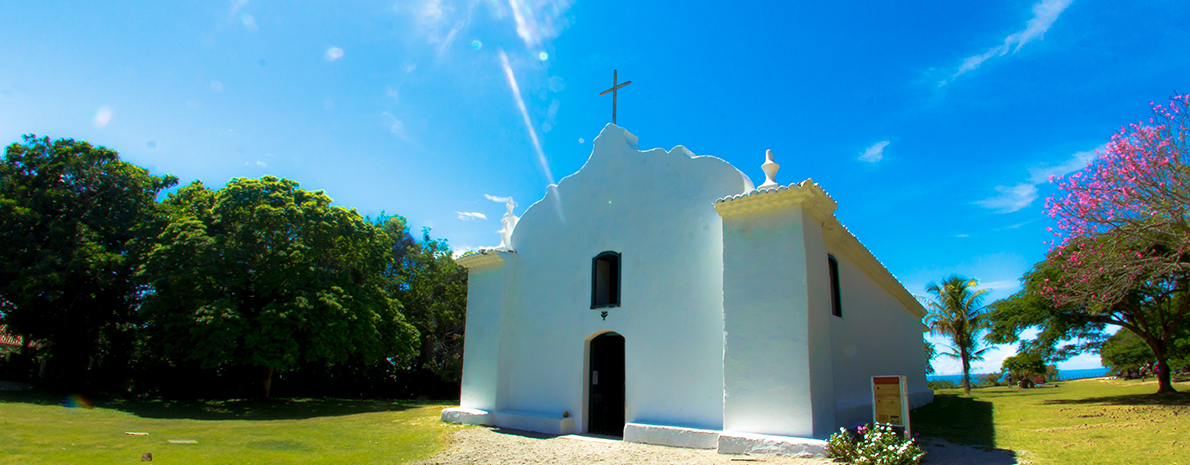
POLYGON ((854 465, 917 465, 926 452, 891 426, 864 425, 856 433, 839 428, 826 446, 827 457, 854 465))

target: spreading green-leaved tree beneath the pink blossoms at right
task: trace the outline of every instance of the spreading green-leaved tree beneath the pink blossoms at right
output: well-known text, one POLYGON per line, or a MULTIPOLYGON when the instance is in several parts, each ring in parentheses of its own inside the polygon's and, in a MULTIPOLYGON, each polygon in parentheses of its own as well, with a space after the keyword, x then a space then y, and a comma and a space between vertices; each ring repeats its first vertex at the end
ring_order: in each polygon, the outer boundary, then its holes
POLYGON ((1119 262, 1121 256, 1161 255, 1163 247, 1109 231, 1051 251, 1022 277, 1021 291, 991 304, 989 341, 1014 343, 1026 328, 1036 327, 1040 333, 1022 341, 1022 348, 1057 362, 1100 351, 1110 335, 1108 326, 1120 326, 1150 347, 1150 362, 1161 370, 1158 392, 1173 391, 1167 360, 1176 357, 1177 347, 1190 344, 1185 331, 1190 268, 1169 266, 1164 260, 1104 263, 1119 262), (1083 250, 1094 252, 1083 255, 1083 250))

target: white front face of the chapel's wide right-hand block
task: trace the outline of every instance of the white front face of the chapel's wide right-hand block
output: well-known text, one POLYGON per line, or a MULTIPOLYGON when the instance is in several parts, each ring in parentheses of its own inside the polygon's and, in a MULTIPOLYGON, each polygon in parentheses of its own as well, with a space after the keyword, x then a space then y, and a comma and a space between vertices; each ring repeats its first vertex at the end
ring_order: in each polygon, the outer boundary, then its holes
POLYGON ((802 220, 800 206, 724 219, 725 431, 815 433, 802 220))

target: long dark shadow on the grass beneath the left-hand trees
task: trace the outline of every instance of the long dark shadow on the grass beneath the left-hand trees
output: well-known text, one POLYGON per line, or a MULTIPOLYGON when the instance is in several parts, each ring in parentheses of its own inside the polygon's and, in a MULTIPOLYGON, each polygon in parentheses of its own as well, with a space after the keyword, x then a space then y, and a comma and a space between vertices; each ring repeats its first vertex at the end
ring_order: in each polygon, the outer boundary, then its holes
MULTIPOLYGON (((0 391, 0 402, 80 407, 88 401, 39 390, 0 391)), ((174 420, 305 420, 375 411, 401 411, 438 403, 406 400, 277 398, 277 400, 99 400, 94 407, 127 411, 145 419, 174 420)), ((444 404, 445 406, 445 404, 444 404)))

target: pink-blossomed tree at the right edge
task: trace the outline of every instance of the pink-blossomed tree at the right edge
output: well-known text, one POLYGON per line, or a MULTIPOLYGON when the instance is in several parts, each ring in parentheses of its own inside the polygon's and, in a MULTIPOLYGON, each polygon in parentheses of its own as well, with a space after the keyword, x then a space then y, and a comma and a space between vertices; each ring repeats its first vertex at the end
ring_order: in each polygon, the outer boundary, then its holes
POLYGON ((1052 181, 1054 272, 1032 274, 1033 291, 1141 337, 1158 392, 1173 391, 1169 348, 1190 314, 1190 95, 1153 105, 1153 118, 1122 127, 1084 170, 1052 181))

